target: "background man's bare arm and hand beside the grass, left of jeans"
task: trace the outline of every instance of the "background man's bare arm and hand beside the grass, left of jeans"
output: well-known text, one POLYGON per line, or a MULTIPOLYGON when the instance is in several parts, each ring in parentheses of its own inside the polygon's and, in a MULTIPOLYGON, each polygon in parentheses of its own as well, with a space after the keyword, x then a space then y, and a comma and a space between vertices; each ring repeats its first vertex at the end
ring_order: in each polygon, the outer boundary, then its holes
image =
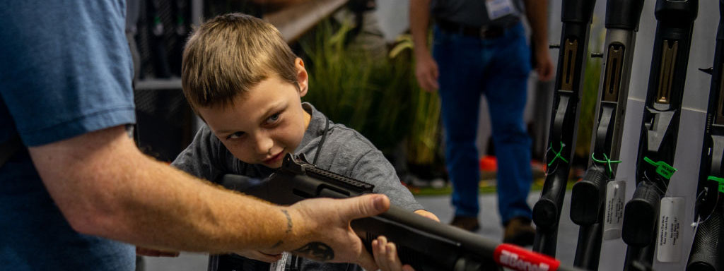
POLYGON ((432 59, 427 46, 427 30, 430 23, 430 0, 410 1, 410 31, 415 52, 415 76, 424 90, 434 91, 437 85, 437 62, 432 59))

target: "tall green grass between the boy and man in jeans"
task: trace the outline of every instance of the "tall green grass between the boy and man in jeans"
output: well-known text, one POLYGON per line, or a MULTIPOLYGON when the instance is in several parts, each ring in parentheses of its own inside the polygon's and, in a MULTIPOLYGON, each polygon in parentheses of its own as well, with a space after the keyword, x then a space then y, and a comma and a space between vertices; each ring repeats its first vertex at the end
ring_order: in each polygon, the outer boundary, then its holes
POLYGON ((300 41, 310 73, 305 100, 390 153, 406 141, 411 163, 433 163, 439 139, 437 93, 418 87, 412 41, 401 36, 387 59, 345 46, 350 25, 324 20, 300 41))

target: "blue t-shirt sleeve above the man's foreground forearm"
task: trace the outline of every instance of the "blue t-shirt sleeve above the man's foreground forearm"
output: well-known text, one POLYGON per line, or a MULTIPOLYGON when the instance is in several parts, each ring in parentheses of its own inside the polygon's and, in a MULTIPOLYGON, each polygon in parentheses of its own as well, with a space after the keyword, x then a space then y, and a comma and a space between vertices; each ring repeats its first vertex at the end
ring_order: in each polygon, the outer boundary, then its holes
POLYGON ((16 129, 35 146, 135 123, 125 1, 4 6, 0 129, 16 129))

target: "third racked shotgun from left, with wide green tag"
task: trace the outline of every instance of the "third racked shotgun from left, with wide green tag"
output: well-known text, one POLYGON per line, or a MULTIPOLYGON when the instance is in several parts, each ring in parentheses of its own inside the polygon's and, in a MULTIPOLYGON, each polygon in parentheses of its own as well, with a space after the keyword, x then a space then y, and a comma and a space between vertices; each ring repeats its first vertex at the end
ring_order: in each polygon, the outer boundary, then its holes
POLYGON ((689 48, 698 0, 657 0, 654 51, 636 158, 636 191, 623 211, 625 268, 651 265, 661 198, 673 168, 689 48))

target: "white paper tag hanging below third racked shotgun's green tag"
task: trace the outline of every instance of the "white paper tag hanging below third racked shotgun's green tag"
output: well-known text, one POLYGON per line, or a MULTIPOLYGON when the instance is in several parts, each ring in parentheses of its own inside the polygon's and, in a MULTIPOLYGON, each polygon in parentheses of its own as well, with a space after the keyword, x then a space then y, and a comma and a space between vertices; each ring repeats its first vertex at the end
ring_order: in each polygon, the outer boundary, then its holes
POLYGON ((659 210, 659 233, 656 238, 659 262, 681 261, 683 220, 686 200, 683 197, 664 197, 659 210))

